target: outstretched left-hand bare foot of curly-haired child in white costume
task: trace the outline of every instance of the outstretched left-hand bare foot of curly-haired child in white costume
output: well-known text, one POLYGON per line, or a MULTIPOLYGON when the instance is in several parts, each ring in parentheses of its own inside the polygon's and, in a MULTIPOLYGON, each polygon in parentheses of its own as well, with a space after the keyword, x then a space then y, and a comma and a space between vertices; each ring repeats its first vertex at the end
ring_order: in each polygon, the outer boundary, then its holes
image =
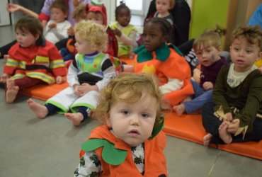
POLYGON ((38 116, 38 118, 43 119, 47 116, 48 110, 47 107, 45 107, 45 105, 41 105, 40 103, 33 101, 31 98, 29 98, 28 101, 26 101, 26 103, 28 104, 30 110, 33 110, 33 112, 36 116, 38 116))

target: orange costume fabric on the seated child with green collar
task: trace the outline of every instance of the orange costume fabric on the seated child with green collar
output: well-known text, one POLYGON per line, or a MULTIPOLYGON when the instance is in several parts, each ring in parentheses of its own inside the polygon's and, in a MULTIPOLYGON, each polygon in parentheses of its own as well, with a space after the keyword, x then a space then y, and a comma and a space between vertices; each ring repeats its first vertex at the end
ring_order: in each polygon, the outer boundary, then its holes
POLYGON ((165 97, 171 103, 171 105, 177 105, 184 99, 191 96, 193 91, 193 86, 190 83, 191 72, 186 59, 178 53, 170 49, 169 58, 166 61, 161 62, 156 59, 156 55, 153 52, 153 58, 146 62, 137 62, 137 56, 134 59, 135 73, 152 73, 155 74, 161 81, 160 85, 166 84, 168 79, 178 79, 184 81, 183 87, 177 91, 172 91, 171 93, 166 93, 165 97))

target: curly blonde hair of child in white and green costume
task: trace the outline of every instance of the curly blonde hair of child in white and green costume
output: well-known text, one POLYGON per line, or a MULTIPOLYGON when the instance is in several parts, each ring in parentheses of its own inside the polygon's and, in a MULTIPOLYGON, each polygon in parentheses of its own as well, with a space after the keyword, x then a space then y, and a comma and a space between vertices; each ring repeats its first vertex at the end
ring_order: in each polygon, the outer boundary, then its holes
POLYGON ((74 26, 75 33, 86 40, 98 52, 107 50, 108 34, 103 25, 94 23, 93 21, 80 21, 74 26))

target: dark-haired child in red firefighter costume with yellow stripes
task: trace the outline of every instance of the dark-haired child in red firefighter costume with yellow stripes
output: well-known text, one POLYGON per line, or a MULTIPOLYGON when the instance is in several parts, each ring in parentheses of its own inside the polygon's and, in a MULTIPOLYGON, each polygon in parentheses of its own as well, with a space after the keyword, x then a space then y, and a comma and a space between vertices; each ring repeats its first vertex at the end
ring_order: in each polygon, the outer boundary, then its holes
POLYGON ((38 19, 25 16, 15 25, 17 43, 8 51, 1 82, 6 83, 6 102, 13 103, 18 91, 38 84, 62 83, 67 68, 59 51, 42 36, 38 19))

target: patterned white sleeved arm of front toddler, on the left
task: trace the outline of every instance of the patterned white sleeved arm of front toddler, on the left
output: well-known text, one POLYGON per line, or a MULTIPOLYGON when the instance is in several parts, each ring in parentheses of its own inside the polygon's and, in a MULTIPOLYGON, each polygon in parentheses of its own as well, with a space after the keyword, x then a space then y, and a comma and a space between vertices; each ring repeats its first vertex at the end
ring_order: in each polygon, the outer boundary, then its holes
POLYGON ((74 171, 74 176, 99 176, 101 171, 101 161, 96 152, 86 152, 81 157, 80 163, 74 171))

